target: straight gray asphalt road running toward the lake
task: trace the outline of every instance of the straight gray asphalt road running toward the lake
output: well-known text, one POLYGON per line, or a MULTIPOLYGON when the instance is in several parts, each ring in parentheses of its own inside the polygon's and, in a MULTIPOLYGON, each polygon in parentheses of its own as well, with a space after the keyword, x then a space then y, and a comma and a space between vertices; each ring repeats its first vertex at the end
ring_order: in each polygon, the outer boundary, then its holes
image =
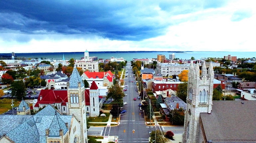
MULTIPOLYGON (((145 125, 143 111, 139 110, 141 100, 137 98, 139 93, 136 91, 137 86, 135 85, 135 77, 133 77, 131 63, 128 62, 127 64, 126 71, 128 71, 128 77, 125 77, 124 80, 125 85, 128 85, 128 89, 124 91, 127 96, 123 98, 123 101, 127 102, 127 105, 123 106, 126 113, 121 114, 120 125, 115 127, 115 132, 118 132, 118 134, 116 133, 116 135, 119 136, 118 142, 149 142, 149 132, 155 130, 155 128, 145 125), (137 100, 134 101, 133 98, 137 100)), ((114 127, 111 127, 110 131, 112 131, 112 128, 114 127)))

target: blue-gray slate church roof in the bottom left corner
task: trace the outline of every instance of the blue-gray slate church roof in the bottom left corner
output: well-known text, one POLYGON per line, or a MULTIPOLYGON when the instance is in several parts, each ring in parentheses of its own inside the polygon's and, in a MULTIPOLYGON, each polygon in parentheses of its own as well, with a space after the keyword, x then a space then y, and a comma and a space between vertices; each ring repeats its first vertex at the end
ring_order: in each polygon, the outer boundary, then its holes
POLYGON ((62 116, 53 106, 48 105, 36 115, 0 115, 0 138, 6 134, 15 143, 46 143, 46 129, 50 135, 59 130, 67 133, 72 116, 62 116), (68 128, 65 126, 68 123, 68 128))

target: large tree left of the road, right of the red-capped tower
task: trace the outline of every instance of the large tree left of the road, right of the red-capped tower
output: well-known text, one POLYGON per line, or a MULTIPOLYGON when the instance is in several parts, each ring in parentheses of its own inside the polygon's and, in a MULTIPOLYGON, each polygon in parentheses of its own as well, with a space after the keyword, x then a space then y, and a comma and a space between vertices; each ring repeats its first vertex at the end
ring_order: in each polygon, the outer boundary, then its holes
POLYGON ((106 100, 113 98, 113 103, 117 103, 120 107, 122 107, 124 97, 123 88, 121 88, 118 84, 115 84, 112 85, 108 91, 109 93, 107 94, 106 100))

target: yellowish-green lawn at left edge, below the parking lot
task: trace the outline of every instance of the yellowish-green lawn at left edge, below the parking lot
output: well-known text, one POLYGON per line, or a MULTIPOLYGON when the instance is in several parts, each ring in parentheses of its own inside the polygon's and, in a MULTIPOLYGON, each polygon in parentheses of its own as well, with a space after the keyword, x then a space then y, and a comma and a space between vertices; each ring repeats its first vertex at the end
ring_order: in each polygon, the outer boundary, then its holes
MULTIPOLYGON (((20 105, 21 101, 18 101, 16 99, 13 99, 13 101, 14 101, 13 108, 20 105)), ((12 99, 7 99, 7 98, 0 99, 0 114, 3 114, 8 110, 11 110, 12 109, 11 104, 12 104, 12 99)))

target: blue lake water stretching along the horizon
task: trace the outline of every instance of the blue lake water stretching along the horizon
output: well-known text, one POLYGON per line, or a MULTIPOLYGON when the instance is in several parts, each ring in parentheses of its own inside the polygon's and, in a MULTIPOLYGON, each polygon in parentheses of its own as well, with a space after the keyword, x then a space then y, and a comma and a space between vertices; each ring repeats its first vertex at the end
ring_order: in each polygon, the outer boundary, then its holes
MULTIPOLYGON (((231 55, 237 56, 237 58, 252 58, 256 57, 256 52, 89 52, 89 56, 97 56, 98 58, 109 59, 110 57, 120 58, 123 57, 127 61, 131 61, 133 58, 157 58, 157 54, 163 54, 166 58, 169 58, 169 54, 175 54, 176 58, 180 59, 190 59, 192 56, 195 59, 207 58, 207 57, 220 57, 231 55)), ((50 59, 62 59, 63 54, 66 60, 70 58, 80 59, 84 57, 84 52, 60 52, 60 53, 15 53, 17 57, 26 57, 26 58, 50 58, 50 59)))

